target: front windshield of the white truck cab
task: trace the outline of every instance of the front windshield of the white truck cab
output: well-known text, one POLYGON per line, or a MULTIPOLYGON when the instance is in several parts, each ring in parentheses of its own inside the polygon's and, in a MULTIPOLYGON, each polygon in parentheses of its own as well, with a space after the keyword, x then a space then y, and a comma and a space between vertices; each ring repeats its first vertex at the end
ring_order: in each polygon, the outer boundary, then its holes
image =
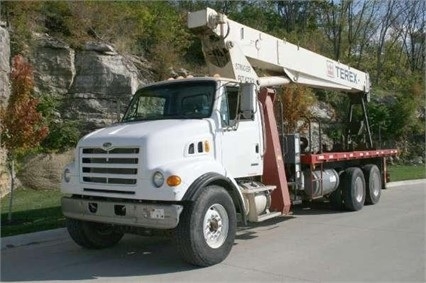
POLYGON ((210 117, 214 81, 173 82, 142 88, 136 92, 122 122, 210 117))

